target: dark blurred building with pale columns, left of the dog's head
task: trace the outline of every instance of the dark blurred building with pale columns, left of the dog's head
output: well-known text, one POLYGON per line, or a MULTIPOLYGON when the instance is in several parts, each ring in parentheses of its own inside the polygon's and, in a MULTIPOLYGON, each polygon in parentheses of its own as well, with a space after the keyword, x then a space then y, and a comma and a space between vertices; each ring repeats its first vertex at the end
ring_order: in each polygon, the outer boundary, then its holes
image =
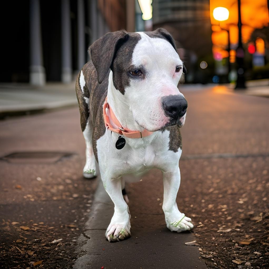
POLYGON ((5 10, 1 82, 69 83, 89 60, 92 42, 135 30, 134 0, 8 1, 5 10))

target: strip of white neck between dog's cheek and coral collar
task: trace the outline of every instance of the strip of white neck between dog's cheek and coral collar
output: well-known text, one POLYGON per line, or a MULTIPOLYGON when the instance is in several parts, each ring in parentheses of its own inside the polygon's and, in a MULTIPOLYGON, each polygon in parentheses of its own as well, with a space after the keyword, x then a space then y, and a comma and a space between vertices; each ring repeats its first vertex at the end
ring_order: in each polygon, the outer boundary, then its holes
POLYGON ((115 88, 112 71, 110 71, 108 79, 107 102, 123 128, 144 130, 134 120, 133 113, 129 105, 126 104, 126 97, 115 88))

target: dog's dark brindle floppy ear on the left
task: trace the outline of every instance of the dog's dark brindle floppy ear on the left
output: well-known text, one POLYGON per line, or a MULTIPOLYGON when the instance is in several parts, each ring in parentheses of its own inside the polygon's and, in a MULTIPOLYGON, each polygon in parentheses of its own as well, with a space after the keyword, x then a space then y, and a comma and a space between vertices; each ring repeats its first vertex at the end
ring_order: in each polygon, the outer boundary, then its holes
POLYGON ((126 41, 128 34, 124 31, 107 33, 97 39, 90 47, 91 60, 97 71, 97 80, 101 84, 109 68, 112 65, 114 56, 120 45, 126 41))

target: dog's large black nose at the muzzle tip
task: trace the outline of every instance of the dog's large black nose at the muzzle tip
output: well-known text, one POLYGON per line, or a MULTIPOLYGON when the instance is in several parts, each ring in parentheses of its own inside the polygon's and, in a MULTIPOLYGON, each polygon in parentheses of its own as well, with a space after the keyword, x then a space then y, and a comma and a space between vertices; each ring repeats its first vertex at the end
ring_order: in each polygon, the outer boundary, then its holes
POLYGON ((168 95, 162 99, 162 107, 165 115, 177 120, 186 113, 188 103, 182 95, 168 95))

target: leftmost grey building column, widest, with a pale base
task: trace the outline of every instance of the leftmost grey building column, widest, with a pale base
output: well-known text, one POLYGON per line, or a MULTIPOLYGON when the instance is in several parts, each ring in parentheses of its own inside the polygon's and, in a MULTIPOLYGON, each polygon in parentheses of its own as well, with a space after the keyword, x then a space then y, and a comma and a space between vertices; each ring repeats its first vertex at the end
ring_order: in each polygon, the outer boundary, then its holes
POLYGON ((39 0, 30 0, 30 84, 43 86, 46 82, 43 66, 39 0))

